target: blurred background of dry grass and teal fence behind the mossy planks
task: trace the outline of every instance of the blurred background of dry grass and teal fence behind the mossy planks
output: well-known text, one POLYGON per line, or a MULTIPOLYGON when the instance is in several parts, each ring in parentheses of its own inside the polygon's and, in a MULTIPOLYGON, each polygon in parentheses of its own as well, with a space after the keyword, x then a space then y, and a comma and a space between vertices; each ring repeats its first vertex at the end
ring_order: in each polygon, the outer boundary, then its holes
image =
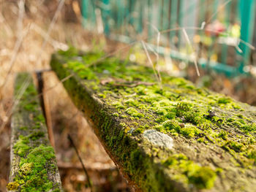
MULTIPOLYGON (((256 105, 255 8, 255 0, 0 0, 0 191, 10 171, 15 73, 50 69, 50 55, 73 46, 153 64, 256 105)), ((64 190, 89 191, 70 134, 94 191, 132 191, 56 75, 43 78, 64 190)))

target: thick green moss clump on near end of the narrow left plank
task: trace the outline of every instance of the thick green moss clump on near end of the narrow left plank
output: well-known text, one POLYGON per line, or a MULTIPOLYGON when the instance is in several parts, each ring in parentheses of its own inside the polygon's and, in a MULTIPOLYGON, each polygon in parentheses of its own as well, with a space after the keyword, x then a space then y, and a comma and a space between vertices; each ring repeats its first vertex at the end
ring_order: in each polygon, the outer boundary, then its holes
POLYGON ((54 150, 53 147, 45 145, 30 147, 29 139, 36 140, 38 137, 44 137, 44 133, 35 132, 28 137, 20 136, 14 146, 15 153, 22 157, 18 175, 14 179, 21 191, 49 191, 53 188, 53 183, 48 179, 48 172, 45 168, 51 167, 55 172, 54 150))

